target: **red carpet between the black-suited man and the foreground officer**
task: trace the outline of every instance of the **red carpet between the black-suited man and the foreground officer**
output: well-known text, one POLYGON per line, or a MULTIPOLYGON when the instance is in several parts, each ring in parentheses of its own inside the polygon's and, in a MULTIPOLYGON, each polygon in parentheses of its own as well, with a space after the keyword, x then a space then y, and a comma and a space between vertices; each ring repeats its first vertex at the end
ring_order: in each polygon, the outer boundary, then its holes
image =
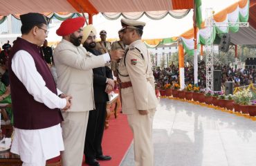
MULTIPOLYGON (((109 128, 104 131, 102 149, 104 155, 110 155, 112 157, 109 161, 99 161, 100 166, 118 166, 120 165, 122 158, 125 156, 133 135, 129 124, 127 122, 127 116, 118 111, 118 118, 114 118, 113 115, 109 118, 109 128)), ((83 165, 86 166, 83 160, 83 165)))

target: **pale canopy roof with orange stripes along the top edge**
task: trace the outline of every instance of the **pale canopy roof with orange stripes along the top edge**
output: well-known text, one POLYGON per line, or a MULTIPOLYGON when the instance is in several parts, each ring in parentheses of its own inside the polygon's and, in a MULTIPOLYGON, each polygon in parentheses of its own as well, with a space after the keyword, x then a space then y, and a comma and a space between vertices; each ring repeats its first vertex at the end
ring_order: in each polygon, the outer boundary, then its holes
POLYGON ((27 12, 144 12, 193 8, 193 0, 1 0, 0 15, 27 12))

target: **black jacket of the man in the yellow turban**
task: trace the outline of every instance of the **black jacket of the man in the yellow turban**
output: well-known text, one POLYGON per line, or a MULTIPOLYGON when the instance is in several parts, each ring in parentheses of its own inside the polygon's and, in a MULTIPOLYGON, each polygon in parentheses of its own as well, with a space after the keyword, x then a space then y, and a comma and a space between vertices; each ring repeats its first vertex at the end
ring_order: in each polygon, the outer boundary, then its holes
MULTIPOLYGON (((93 55, 102 55, 99 50, 86 48, 87 51, 93 55)), ((109 96, 105 92, 107 78, 113 79, 112 71, 109 67, 93 68, 93 93, 95 103, 102 103, 109 101, 109 96)))

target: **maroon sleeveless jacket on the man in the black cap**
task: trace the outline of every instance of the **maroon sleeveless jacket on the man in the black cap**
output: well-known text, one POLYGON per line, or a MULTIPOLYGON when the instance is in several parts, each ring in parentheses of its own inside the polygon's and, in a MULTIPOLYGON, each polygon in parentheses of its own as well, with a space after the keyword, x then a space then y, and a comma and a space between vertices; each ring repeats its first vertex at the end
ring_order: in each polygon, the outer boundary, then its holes
POLYGON ((18 37, 12 47, 8 62, 14 126, 18 129, 44 129, 53 127, 63 120, 60 109, 49 109, 45 104, 35 101, 33 95, 28 93, 24 84, 12 71, 12 57, 19 50, 26 50, 33 57, 37 72, 43 77, 46 87, 57 94, 53 76, 48 65, 44 62, 40 48, 18 37))

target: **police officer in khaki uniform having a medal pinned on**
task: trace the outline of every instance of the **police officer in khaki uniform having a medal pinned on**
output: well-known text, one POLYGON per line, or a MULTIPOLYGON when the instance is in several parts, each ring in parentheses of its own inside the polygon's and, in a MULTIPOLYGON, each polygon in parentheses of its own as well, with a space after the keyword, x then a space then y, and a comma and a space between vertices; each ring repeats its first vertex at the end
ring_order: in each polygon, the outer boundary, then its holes
POLYGON ((158 100, 154 89, 152 62, 141 41, 144 22, 122 19, 122 42, 129 45, 118 67, 122 112, 134 133, 136 166, 154 165, 152 122, 158 100))

